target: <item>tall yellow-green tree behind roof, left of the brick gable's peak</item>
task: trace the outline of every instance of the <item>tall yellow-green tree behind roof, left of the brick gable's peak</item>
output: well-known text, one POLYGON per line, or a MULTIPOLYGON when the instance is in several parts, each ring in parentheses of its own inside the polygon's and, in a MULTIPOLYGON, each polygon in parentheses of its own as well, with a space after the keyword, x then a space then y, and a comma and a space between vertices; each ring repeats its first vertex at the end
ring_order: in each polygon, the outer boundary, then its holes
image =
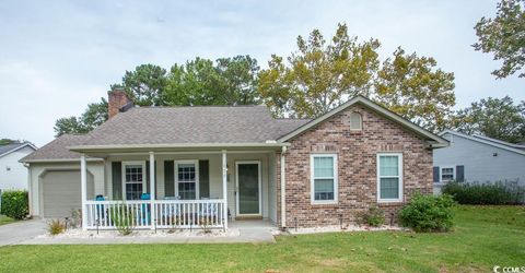
POLYGON ((307 40, 298 37, 296 52, 288 58, 271 56, 259 74, 259 92, 277 116, 315 117, 336 107, 345 97, 369 95, 378 60, 380 43, 357 43, 339 24, 327 43, 318 29, 307 40))

